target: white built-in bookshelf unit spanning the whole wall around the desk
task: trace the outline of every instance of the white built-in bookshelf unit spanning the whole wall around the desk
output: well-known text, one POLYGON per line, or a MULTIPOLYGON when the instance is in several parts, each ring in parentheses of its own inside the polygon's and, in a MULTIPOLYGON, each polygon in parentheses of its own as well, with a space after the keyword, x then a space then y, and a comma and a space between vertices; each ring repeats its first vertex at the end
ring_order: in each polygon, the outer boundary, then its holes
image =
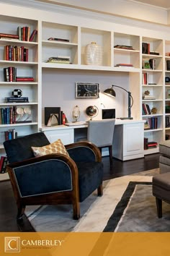
MULTIPOLYGON (((5 130, 15 129, 19 136, 23 136, 37 132, 42 127, 42 95, 45 93, 42 91, 44 83, 42 77, 45 77, 49 70, 50 72, 53 70, 53 74, 58 70, 66 71, 66 74, 68 70, 71 70, 72 74, 77 70, 81 72, 89 70, 94 74, 102 72, 104 76, 112 74, 113 77, 116 74, 120 82, 122 74, 126 74, 128 84, 125 86, 135 100, 132 116, 135 119, 151 117, 157 119, 156 129, 144 130, 144 137, 159 143, 168 137, 166 135, 170 135, 170 127, 166 125, 167 119, 170 119, 170 112, 166 113, 166 106, 170 105, 170 98, 167 98, 170 82, 169 84, 165 82, 165 77, 170 77, 170 70, 166 69, 166 61, 170 60, 170 56, 166 56, 166 53, 170 52, 170 34, 165 32, 160 35, 159 31, 151 32, 146 28, 138 30, 138 27, 134 28, 133 25, 132 27, 115 25, 114 22, 103 23, 99 20, 95 20, 93 24, 93 22, 84 22, 83 17, 78 19, 69 16, 68 19, 67 14, 56 15, 55 12, 40 10, 37 12, 36 9, 27 10, 24 7, 22 10, 24 14, 17 12, 17 7, 12 7, 9 12, 3 8, 0 11, 0 33, 16 34, 19 26, 29 26, 30 31, 37 30, 36 40, 31 42, 0 38, 0 108, 9 108, 13 105, 29 107, 32 115, 30 122, 27 123, 0 124, 1 155, 4 155, 2 143, 5 130), (49 38, 66 40, 48 40, 49 38), (84 61, 86 45, 91 42, 96 42, 102 47, 102 64, 99 66, 86 65, 84 61), (149 44, 152 54, 143 53, 143 43, 149 44), (28 61, 6 61, 4 59, 6 45, 28 48, 28 61), (115 46, 130 46, 130 48, 115 46), (47 62, 52 56, 69 56, 71 64, 47 62), (143 67, 143 63, 149 59, 154 59, 154 69, 143 67), (119 64, 132 64, 132 67, 123 67, 119 64), (5 67, 16 67, 18 76, 34 77, 34 82, 4 82, 5 67), (143 82, 144 74, 147 76, 147 82, 143 82), (22 95, 29 98, 29 103, 13 104, 4 101, 4 98, 12 95, 12 90, 15 88, 22 90, 22 95), (143 99, 146 90, 149 90, 155 98, 143 99), (150 109, 156 108, 156 113, 143 114, 143 103, 148 104, 150 109)), ((145 150, 145 154, 156 152, 158 147, 145 150)))

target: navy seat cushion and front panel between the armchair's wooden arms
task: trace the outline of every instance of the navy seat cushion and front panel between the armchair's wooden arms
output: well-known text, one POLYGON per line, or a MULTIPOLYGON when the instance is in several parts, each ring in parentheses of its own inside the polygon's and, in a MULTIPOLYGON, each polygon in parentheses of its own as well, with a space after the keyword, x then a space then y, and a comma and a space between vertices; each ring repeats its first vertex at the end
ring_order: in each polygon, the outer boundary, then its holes
POLYGON ((79 162, 76 164, 79 170, 79 197, 82 202, 102 184, 103 163, 79 162))

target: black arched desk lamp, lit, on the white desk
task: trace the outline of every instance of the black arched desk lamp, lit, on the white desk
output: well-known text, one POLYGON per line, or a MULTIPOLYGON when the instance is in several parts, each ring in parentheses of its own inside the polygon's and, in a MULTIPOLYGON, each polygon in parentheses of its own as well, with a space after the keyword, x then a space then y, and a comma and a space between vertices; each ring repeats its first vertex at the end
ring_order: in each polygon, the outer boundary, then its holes
MULTIPOLYGON (((112 88, 108 88, 104 90, 104 94, 111 96, 111 97, 116 97, 115 90, 113 89, 114 87, 121 88, 122 90, 125 90, 124 88, 118 86, 118 85, 112 85, 112 88)), ((133 119, 131 116, 131 108, 133 106, 133 96, 128 90, 125 90, 126 93, 128 93, 128 117, 120 117, 120 119, 125 120, 125 119, 133 119)))

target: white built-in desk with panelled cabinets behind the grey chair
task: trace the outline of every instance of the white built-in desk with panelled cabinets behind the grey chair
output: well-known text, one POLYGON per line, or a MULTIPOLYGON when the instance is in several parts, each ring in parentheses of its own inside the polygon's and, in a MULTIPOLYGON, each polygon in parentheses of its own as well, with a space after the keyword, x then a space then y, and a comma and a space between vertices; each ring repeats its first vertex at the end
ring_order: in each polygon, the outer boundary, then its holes
MULTIPOLYGON (((143 158, 143 120, 120 120, 115 121, 115 131, 113 139, 113 156, 122 161, 127 161, 135 158, 143 158)), ((42 127, 41 132, 44 132, 50 142, 61 139, 64 145, 75 142, 76 129, 81 131, 82 128, 87 128, 87 124, 77 126, 58 125, 56 127, 42 127)), ((102 155, 107 155, 104 151, 102 155)))

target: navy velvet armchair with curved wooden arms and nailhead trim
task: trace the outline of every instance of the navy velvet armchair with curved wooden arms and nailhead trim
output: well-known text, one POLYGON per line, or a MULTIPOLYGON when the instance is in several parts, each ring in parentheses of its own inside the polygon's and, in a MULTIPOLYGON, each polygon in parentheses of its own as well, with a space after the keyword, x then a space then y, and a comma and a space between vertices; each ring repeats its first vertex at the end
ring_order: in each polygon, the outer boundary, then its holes
POLYGON ((103 165, 97 146, 90 142, 66 145, 67 155, 35 157, 31 147, 49 145, 42 132, 6 140, 7 171, 17 202, 17 218, 26 205, 72 204, 73 219, 80 218, 80 205, 97 189, 102 196, 103 165))

